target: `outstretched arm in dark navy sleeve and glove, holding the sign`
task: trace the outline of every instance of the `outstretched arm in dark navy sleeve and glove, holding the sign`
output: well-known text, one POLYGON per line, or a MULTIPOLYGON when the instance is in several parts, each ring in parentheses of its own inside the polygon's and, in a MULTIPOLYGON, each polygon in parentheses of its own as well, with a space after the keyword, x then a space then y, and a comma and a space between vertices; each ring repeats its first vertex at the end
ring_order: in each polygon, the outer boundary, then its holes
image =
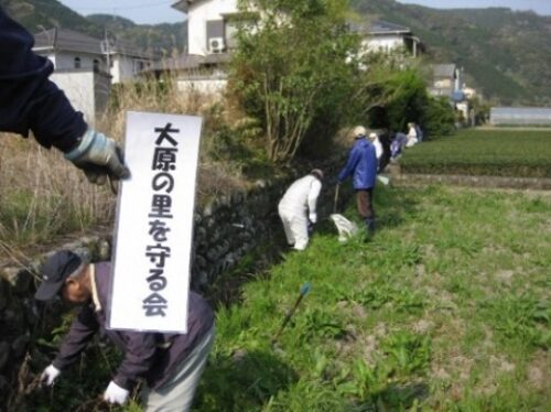
POLYGON ((0 131, 56 148, 96 184, 130 175, 114 140, 89 128, 48 79, 52 62, 32 52, 34 39, 0 7, 0 131))

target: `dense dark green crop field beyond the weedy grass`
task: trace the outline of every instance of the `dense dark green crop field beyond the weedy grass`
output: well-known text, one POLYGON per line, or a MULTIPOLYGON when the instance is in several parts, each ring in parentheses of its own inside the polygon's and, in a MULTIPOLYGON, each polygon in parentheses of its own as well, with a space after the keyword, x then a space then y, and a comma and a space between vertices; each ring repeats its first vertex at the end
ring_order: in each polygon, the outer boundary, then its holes
POLYGON ((463 130, 400 159, 404 173, 551 177, 550 130, 463 130))

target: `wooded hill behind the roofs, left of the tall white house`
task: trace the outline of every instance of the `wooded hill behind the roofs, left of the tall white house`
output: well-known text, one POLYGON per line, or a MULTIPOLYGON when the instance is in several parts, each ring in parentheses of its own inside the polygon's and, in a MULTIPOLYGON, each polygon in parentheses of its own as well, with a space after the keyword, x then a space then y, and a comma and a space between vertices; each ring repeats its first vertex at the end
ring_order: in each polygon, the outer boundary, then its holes
POLYGON ((117 39, 165 55, 181 53, 185 43, 184 14, 182 23, 136 24, 108 14, 84 17, 56 0, 0 0, 0 4, 31 33, 60 26, 102 37, 107 28, 117 39))

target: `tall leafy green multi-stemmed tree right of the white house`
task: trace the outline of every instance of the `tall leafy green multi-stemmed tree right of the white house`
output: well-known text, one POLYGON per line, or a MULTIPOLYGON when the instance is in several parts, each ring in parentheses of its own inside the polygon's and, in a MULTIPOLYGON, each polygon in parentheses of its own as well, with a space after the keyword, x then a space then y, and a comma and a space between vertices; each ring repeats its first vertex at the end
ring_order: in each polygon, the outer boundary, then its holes
POLYGON ((346 25, 347 0, 241 0, 230 88, 261 122, 268 158, 290 161, 314 119, 339 126, 353 87, 358 41, 346 25), (348 62, 348 63, 347 63, 348 62), (331 110, 333 109, 333 110, 331 110), (327 117, 328 116, 328 117, 327 117))

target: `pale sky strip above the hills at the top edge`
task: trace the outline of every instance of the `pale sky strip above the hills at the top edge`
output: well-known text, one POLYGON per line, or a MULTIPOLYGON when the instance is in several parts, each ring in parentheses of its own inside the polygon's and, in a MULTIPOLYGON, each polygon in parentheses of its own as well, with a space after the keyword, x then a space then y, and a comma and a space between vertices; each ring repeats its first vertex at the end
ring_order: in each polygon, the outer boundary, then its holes
MULTIPOLYGON (((139 24, 176 23, 185 14, 171 8, 175 0, 60 0, 76 12, 118 14, 139 24)), ((300 1, 300 0, 296 0, 300 1)), ((533 10, 551 15, 551 0, 398 0, 432 8, 484 8, 508 7, 514 10, 533 10)))

